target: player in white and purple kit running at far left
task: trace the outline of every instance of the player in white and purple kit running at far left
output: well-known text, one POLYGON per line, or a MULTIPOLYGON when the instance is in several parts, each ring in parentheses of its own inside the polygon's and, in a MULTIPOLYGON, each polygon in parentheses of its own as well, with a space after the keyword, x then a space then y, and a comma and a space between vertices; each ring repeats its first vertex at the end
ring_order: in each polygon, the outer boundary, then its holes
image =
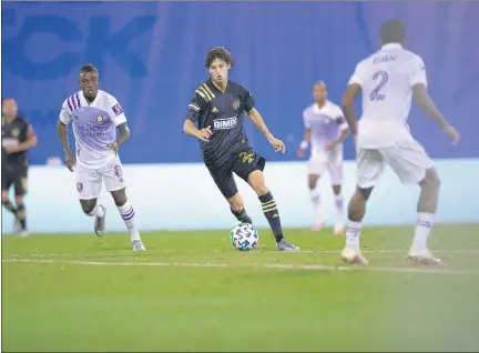
POLYGON ((116 99, 99 90, 99 72, 92 64, 80 70, 81 91, 69 97, 62 105, 58 134, 65 153, 67 168, 75 169, 77 191, 86 215, 94 216, 94 232, 103 236, 105 206, 98 204, 102 182, 113 196, 126 228, 134 251, 144 251, 133 205, 126 198, 126 183, 118 155, 119 148, 130 138, 126 117, 116 99), (70 151, 67 125, 73 124, 75 154, 70 151), (116 131, 120 131, 116 138, 116 131))

